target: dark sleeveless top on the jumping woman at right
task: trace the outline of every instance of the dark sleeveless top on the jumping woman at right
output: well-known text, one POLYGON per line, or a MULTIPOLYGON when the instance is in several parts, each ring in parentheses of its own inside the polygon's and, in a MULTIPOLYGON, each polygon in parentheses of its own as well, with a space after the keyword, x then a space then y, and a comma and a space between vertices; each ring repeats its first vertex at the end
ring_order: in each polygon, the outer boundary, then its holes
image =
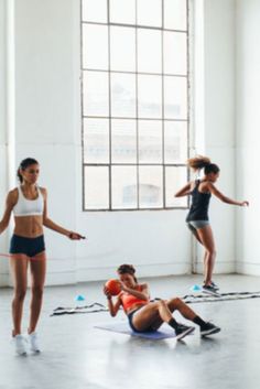
POLYGON ((212 193, 198 192, 199 180, 195 181, 195 187, 191 192, 192 205, 186 217, 186 221, 208 220, 208 206, 212 193))

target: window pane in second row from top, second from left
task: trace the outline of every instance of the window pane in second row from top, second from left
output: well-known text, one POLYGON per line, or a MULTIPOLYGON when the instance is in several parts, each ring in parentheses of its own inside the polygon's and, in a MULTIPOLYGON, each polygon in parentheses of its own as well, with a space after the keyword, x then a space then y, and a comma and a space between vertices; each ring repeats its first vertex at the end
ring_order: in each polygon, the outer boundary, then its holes
POLYGON ((136 72, 136 30, 110 28, 111 71, 136 72))

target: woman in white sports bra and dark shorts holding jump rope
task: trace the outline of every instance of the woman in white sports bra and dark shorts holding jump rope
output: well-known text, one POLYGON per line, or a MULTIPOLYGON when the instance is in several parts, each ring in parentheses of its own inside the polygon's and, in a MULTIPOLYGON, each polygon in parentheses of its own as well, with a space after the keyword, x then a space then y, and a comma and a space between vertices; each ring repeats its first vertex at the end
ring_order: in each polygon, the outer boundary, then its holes
POLYGON ((26 354, 26 343, 31 350, 40 352, 36 324, 40 317, 43 288, 46 274, 46 255, 43 226, 72 240, 84 239, 77 233, 67 230, 47 216, 47 192, 37 186, 40 166, 36 160, 26 158, 18 169, 20 185, 7 196, 6 210, 0 221, 0 234, 8 227, 11 213, 14 215, 14 231, 10 245, 10 262, 14 283, 12 301, 12 336, 19 355, 26 354), (28 267, 32 280, 31 315, 28 336, 21 332, 23 302, 28 287, 28 267))

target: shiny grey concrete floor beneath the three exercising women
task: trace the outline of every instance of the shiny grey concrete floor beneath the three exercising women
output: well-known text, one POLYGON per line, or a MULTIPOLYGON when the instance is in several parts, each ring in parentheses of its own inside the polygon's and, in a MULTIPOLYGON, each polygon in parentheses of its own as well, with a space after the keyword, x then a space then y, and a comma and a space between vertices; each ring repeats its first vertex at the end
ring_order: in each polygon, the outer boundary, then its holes
MULTIPOLYGON (((201 277, 149 280, 152 296, 183 296, 201 277)), ((259 291, 260 279, 221 275, 223 292, 259 291)), ((260 299, 199 303, 191 306, 223 331, 210 338, 194 336, 147 341, 94 328, 112 320, 107 312, 50 317, 57 306, 105 303, 101 283, 46 288, 39 334, 42 353, 19 357, 10 341, 12 291, 0 290, 0 389, 258 389, 260 386, 260 299)), ((28 311, 29 298, 26 300, 28 311)), ((178 316, 176 316, 180 318, 178 316)), ((24 328, 26 318, 24 317, 24 328)), ((183 322, 185 322, 183 320, 183 322)))

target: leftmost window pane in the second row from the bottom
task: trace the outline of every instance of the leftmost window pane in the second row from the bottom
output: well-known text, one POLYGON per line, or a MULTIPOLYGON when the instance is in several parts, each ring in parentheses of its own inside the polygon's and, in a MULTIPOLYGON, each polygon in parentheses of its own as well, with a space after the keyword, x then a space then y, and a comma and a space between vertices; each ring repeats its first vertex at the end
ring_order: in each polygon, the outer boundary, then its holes
POLYGON ((84 162, 109 163, 108 119, 84 119, 84 162))

